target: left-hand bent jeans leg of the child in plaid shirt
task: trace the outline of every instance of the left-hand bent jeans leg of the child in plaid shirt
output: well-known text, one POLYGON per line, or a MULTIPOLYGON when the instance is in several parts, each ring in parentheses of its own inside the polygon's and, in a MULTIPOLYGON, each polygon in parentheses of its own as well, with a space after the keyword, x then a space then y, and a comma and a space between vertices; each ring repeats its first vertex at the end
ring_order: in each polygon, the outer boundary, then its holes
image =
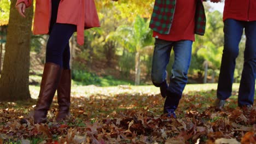
POLYGON ((166 79, 166 67, 169 63, 172 43, 172 41, 155 39, 151 79, 156 87, 160 87, 166 79))

